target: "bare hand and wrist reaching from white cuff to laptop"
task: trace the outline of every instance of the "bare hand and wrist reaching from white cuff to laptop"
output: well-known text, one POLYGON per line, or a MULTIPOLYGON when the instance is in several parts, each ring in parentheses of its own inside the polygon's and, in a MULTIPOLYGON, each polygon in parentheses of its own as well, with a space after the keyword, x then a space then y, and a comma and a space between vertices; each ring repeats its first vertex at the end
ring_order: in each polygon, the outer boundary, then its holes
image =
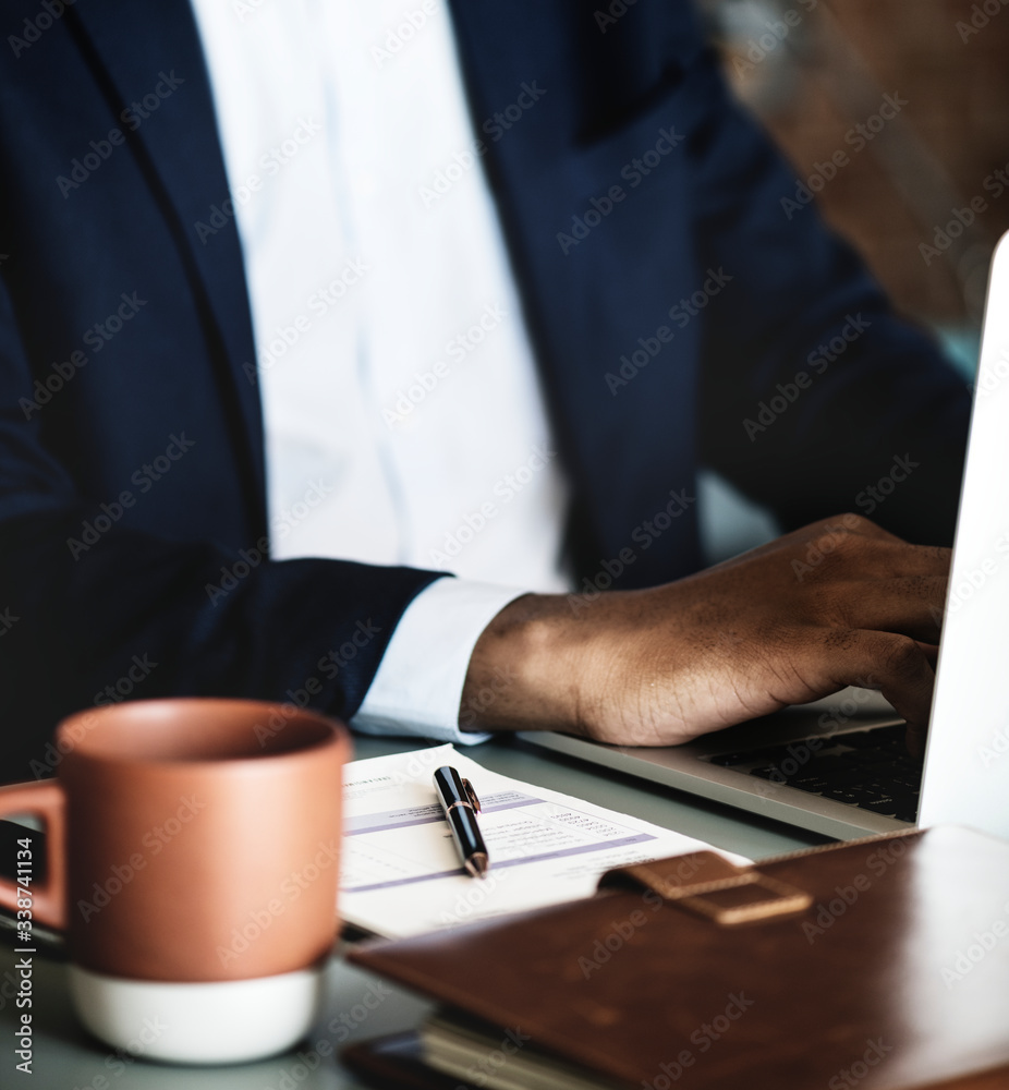
POLYGON ((922 727, 948 562, 848 514, 652 590, 526 595, 477 641, 461 712, 668 746, 856 685, 922 727))

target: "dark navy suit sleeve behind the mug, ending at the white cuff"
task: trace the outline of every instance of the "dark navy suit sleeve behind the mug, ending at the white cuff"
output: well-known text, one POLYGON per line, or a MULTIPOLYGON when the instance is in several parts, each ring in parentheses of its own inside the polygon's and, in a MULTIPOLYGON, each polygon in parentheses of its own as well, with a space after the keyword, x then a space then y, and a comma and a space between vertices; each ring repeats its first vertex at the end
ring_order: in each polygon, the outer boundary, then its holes
POLYGON ((212 541, 122 529, 26 421, 32 372, 0 283, 0 756, 53 774, 65 714, 167 695, 294 701, 350 718, 397 622, 435 572, 245 560, 212 541), (82 549, 89 520, 100 547, 82 549), (229 578, 222 578, 222 568, 229 578))

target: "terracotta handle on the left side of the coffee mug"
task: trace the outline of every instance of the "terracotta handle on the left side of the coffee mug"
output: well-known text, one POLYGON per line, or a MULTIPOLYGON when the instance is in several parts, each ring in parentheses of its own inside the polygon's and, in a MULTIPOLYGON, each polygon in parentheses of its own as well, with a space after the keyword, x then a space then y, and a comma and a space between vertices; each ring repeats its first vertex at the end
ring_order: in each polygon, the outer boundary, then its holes
MULTIPOLYGON (((31 884, 19 886, 0 877, 0 906, 15 915, 21 899, 31 900, 31 919, 57 931, 66 928, 66 819, 63 789, 54 779, 34 784, 12 784, 0 787, 0 818, 8 814, 38 814, 46 821, 46 863, 48 875, 45 886, 39 886, 33 873, 31 884)), ((25 831, 26 835, 29 832, 25 831)), ((16 858, 16 853, 15 853, 16 858)), ((33 853, 32 862, 37 862, 33 853)), ((35 868, 33 867, 33 871, 35 868)))

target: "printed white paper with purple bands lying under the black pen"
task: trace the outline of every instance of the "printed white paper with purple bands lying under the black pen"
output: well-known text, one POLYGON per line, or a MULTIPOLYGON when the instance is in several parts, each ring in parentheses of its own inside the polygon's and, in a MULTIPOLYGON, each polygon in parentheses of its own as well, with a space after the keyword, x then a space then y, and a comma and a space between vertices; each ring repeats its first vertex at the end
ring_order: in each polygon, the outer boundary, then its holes
POLYGON ((452 746, 352 761, 343 783, 340 916, 388 937, 589 897, 612 867, 719 850, 498 775, 452 746), (445 764, 471 779, 479 796, 490 856, 484 879, 463 871, 431 786, 445 764))

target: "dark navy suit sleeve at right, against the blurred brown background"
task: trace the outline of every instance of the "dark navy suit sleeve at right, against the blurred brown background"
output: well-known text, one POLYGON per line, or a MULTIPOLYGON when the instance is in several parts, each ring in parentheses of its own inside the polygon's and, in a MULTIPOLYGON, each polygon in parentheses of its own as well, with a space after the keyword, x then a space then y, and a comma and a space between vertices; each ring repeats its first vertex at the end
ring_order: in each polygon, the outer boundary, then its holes
MULTIPOLYGON (((965 384, 827 230, 710 51, 693 78, 704 104, 688 148, 694 241, 718 288, 703 337, 703 460, 786 529, 853 510, 950 544, 965 384)), ((858 138, 840 150, 872 154, 858 138)))

